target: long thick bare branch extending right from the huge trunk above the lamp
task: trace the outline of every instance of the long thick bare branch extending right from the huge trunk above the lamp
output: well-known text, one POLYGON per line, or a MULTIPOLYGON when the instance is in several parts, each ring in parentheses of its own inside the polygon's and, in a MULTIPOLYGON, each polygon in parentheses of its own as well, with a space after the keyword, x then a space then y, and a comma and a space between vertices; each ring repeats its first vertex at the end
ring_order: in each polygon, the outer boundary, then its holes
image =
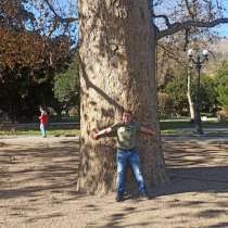
POLYGON ((200 22, 200 21, 187 21, 187 22, 182 22, 182 23, 178 22, 178 23, 172 24, 168 28, 166 28, 164 30, 157 31, 156 39, 159 40, 163 37, 174 35, 174 34, 176 34, 180 30, 188 29, 190 27, 206 27, 206 28, 210 28, 210 27, 214 27, 216 25, 225 24, 225 23, 228 23, 228 17, 217 18, 217 20, 214 20, 212 22, 200 22))

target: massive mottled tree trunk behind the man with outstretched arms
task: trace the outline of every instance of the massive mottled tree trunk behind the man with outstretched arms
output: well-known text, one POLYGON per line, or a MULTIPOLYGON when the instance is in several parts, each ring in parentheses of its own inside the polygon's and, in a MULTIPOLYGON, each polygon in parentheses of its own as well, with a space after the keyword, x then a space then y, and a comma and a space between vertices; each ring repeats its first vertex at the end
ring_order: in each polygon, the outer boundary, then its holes
MULTIPOLYGON (((156 130, 141 137, 147 186, 167 181, 161 148, 155 84, 155 37, 148 0, 79 0, 80 167, 78 189, 114 190, 115 141, 91 139, 93 129, 121 121, 122 109, 156 130)), ((130 173, 128 187, 135 188, 130 173)))

